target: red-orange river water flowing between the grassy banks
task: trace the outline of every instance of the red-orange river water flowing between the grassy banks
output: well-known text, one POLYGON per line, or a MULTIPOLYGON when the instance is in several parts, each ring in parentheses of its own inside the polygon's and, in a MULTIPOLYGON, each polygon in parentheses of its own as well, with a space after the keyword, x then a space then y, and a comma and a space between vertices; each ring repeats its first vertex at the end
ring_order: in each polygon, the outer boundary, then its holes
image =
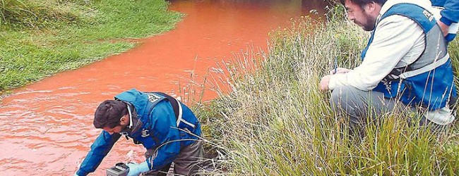
MULTIPOLYGON (((78 70, 15 89, 0 106, 0 175, 73 175, 101 130, 97 105, 126 89, 178 94, 191 73, 202 77, 215 63, 249 46, 266 49, 268 32, 290 18, 323 12, 321 0, 172 1, 186 13, 177 28, 78 70)), ((205 92, 205 99, 215 94, 205 92)), ((142 162, 144 149, 121 138, 93 175, 117 162, 142 162)))

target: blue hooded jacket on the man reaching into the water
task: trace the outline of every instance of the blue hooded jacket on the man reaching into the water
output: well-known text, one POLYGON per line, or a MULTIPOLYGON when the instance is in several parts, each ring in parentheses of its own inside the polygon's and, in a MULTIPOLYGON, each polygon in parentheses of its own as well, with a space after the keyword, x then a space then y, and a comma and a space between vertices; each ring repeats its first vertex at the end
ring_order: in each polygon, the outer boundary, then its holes
MULTIPOLYGON (((201 136, 200 122, 183 103, 179 103, 181 117, 177 120, 171 103, 162 94, 131 89, 115 96, 115 99, 133 106, 135 108, 133 111, 136 113, 131 112, 131 115, 133 118, 137 116, 140 120, 138 127, 134 126, 132 131, 121 133, 141 143, 145 149, 157 151, 146 160, 150 170, 159 170, 172 163, 182 147, 195 142, 198 139, 196 136, 201 136)), ((88 175, 94 172, 120 137, 120 133, 109 134, 105 130, 102 131, 91 145, 88 155, 76 174, 88 175)))

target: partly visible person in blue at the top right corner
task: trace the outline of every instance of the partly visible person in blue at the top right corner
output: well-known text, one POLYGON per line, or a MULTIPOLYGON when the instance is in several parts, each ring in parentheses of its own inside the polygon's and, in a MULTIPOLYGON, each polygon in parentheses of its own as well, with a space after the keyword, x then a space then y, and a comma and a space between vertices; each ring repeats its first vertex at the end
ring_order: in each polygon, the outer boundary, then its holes
POLYGON ((434 13, 447 42, 451 42, 459 27, 459 0, 431 0, 438 11, 434 13))

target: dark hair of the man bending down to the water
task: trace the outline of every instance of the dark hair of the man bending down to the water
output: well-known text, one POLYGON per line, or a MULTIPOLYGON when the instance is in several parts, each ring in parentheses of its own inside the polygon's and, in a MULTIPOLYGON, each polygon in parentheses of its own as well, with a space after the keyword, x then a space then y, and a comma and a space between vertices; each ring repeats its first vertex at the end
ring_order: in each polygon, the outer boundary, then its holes
POLYGON ((100 103, 94 113, 94 127, 114 128, 120 125, 120 119, 128 114, 126 103, 117 100, 106 100, 100 103))

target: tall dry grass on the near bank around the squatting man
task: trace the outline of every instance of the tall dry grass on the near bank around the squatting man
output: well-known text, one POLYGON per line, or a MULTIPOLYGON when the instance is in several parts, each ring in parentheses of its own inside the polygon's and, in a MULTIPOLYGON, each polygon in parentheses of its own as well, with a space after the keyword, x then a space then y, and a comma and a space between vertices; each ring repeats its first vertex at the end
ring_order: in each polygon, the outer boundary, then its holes
MULTIPOLYGON (((204 130, 220 172, 237 175, 455 175, 457 127, 436 137, 388 114, 364 139, 347 137, 318 82, 338 57, 354 68, 367 34, 345 20, 313 27, 300 19, 271 35, 268 54, 248 51, 223 68, 231 91, 203 106, 204 130)), ((451 56, 458 64, 457 39, 451 56)), ((458 68, 458 66, 455 66, 458 68)), ((220 90, 222 91, 222 90, 220 90)), ((222 91, 223 92, 223 91, 222 91)))

